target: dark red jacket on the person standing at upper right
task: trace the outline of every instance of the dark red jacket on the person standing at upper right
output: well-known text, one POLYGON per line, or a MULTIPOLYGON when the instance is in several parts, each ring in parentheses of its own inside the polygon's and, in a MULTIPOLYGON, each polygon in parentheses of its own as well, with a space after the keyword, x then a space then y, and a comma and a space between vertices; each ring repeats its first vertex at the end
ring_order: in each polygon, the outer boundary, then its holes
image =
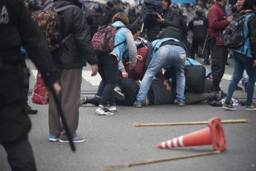
POLYGON ((216 1, 208 12, 208 29, 210 36, 215 36, 216 45, 223 45, 223 31, 229 25, 226 19, 225 7, 216 1))

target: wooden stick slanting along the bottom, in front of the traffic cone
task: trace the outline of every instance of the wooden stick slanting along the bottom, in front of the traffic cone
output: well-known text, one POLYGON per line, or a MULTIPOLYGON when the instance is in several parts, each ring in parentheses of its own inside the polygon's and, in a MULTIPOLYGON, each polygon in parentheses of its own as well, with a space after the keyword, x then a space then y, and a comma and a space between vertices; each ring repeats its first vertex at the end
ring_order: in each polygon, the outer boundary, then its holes
POLYGON ((108 167, 105 167, 105 170, 115 170, 115 169, 119 169, 119 168, 132 167, 132 166, 141 165, 141 164, 153 164, 153 163, 161 162, 161 161, 173 161, 173 160, 178 160, 178 159, 183 159, 183 158, 193 158, 193 157, 199 157, 199 156, 203 156, 203 155, 214 155, 214 154, 219 154, 219 153, 220 153, 220 151, 202 152, 202 153, 197 153, 195 155, 183 155, 183 156, 174 157, 174 158, 159 158, 159 159, 147 160, 147 161, 135 161, 132 163, 108 166, 108 167))

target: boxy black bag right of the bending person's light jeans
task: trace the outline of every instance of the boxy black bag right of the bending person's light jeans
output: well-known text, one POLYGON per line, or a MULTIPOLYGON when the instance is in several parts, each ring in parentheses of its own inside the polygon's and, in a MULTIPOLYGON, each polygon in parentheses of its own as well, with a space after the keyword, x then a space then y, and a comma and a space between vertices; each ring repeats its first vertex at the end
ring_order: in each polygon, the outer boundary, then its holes
POLYGON ((186 91, 202 92, 205 90, 205 67, 203 65, 185 65, 185 78, 186 91))

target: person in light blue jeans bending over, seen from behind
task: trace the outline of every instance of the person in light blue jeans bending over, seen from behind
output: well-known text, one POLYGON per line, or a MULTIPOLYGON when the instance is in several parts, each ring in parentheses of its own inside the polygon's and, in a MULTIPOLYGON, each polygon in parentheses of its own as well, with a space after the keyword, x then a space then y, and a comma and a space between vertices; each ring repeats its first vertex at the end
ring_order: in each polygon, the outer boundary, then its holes
MULTIPOLYGON (((178 31, 179 32, 179 31, 178 31)), ((141 82, 141 88, 138 91, 137 99, 133 106, 142 107, 142 103, 150 89, 150 83, 153 77, 161 71, 162 68, 172 65, 176 70, 177 86, 176 99, 179 106, 185 106, 185 45, 179 41, 180 33, 173 35, 172 29, 165 29, 159 33, 159 38, 153 41, 147 50, 147 60, 150 60, 147 71, 141 82), (170 34, 168 34, 170 33, 170 34), (162 39, 161 39, 162 37, 162 39), (173 37, 173 38, 172 38, 173 37), (178 38, 178 39, 175 39, 178 38), (150 57, 149 57, 150 56, 150 57)))

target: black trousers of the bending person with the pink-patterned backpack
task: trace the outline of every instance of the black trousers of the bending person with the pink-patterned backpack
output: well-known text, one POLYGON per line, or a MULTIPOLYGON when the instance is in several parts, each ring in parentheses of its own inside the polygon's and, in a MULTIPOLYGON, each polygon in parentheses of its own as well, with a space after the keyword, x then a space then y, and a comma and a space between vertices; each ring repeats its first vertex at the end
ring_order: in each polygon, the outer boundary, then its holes
POLYGON ((111 105, 115 103, 113 98, 113 91, 116 83, 118 83, 118 59, 115 56, 106 54, 98 56, 99 74, 103 81, 103 93, 100 100, 100 105, 106 106, 108 103, 111 105))

